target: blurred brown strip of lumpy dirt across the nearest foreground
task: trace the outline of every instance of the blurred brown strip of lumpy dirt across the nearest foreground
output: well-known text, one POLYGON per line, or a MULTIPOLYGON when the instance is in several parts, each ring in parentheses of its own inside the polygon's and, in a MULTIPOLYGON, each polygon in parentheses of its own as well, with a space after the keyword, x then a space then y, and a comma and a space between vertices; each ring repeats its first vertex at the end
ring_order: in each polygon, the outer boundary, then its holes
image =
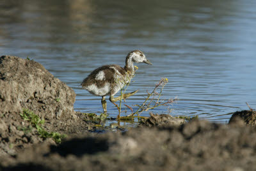
POLYGON ((72 138, 26 149, 3 169, 255 170, 256 130, 194 120, 170 128, 72 138))

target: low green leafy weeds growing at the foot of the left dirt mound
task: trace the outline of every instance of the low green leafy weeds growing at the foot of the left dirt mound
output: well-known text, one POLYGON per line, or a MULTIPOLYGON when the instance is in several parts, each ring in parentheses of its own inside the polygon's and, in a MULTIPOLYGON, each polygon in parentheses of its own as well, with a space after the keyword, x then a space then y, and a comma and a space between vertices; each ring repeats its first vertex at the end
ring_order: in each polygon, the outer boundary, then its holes
POLYGON ((24 121, 28 121, 31 124, 28 126, 28 128, 21 128, 21 130, 23 130, 25 133, 26 131, 31 131, 31 126, 33 126, 34 128, 36 128, 36 131, 38 132, 40 137, 53 138, 53 140, 57 144, 60 144, 61 139, 66 137, 66 135, 63 135, 57 132, 49 133, 46 130, 44 130, 44 128, 42 128, 42 125, 45 123, 44 119, 40 119, 40 117, 34 114, 34 112, 31 110, 24 108, 20 116, 22 117, 22 119, 24 119, 24 121))

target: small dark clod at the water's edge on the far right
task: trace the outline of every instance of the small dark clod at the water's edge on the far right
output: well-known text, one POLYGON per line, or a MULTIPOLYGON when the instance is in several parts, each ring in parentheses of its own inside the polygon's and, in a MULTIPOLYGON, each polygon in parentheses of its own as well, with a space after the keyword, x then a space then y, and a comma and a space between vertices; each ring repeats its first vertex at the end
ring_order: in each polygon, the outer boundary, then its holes
POLYGON ((237 111, 232 114, 228 124, 241 124, 241 120, 250 126, 256 124, 256 111, 255 110, 243 110, 237 111))

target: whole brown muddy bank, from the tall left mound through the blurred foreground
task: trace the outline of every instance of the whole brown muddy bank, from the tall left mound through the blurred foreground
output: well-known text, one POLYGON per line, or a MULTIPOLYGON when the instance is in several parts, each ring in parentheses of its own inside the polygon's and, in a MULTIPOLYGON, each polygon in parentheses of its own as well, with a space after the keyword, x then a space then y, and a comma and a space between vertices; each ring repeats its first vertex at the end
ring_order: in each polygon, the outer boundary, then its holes
POLYGON ((41 64, 2 56, 0 170, 256 169, 256 128, 244 119, 250 112, 228 125, 152 114, 139 128, 92 133, 97 116, 75 112, 75 97, 41 64), (68 137, 57 144, 38 126, 68 137))

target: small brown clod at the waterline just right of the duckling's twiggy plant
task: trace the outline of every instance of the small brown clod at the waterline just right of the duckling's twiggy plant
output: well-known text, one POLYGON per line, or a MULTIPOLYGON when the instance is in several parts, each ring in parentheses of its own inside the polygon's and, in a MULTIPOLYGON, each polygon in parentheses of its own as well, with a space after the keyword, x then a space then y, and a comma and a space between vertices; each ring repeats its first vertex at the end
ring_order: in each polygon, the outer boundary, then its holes
POLYGON ((150 114, 150 117, 140 124, 140 126, 148 127, 168 127, 168 126, 179 126, 180 124, 186 123, 185 119, 179 119, 172 117, 172 115, 165 114, 150 114))

